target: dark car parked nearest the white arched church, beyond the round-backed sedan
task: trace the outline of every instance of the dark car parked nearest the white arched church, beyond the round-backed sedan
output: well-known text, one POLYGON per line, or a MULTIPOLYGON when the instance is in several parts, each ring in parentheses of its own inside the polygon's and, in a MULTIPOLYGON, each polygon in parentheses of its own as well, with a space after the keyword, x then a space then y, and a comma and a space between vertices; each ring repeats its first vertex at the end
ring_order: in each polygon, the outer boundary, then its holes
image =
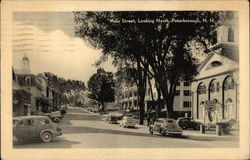
POLYGON ((200 122, 196 122, 191 118, 185 117, 178 118, 177 123, 182 129, 192 128, 194 130, 199 130, 201 124, 200 122))

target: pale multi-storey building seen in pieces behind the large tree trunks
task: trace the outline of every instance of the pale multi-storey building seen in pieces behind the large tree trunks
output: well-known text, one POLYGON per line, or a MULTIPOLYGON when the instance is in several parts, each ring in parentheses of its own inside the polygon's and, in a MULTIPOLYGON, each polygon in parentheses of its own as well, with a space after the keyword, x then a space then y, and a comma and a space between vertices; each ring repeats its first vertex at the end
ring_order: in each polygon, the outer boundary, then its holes
MULTIPOLYGON (((145 111, 155 110, 156 104, 154 101, 157 101, 158 94, 156 90, 156 85, 154 80, 151 80, 152 93, 150 86, 147 85, 146 93, 145 93, 145 111), (151 95, 153 94, 153 95, 151 95), (154 99, 154 100, 153 100, 154 99)), ((139 110, 138 106, 138 93, 137 86, 130 84, 123 84, 120 93, 120 104, 123 110, 139 110)), ((161 97, 161 100, 162 101, 161 97)), ((176 94, 174 98, 173 108, 175 111, 175 115, 177 117, 185 116, 191 114, 191 83, 179 81, 176 87, 176 94)), ((162 110, 164 111, 164 109, 162 110)))

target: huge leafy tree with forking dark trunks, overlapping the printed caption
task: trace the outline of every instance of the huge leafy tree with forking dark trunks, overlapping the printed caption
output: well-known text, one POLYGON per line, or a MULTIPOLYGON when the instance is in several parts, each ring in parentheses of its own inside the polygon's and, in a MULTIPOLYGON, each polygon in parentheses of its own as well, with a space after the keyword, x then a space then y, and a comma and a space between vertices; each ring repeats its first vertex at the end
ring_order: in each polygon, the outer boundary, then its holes
POLYGON ((197 74, 199 61, 193 51, 207 51, 226 15, 210 11, 75 12, 75 33, 104 55, 137 64, 141 113, 147 74, 153 77, 172 117, 178 81, 192 80, 197 74))

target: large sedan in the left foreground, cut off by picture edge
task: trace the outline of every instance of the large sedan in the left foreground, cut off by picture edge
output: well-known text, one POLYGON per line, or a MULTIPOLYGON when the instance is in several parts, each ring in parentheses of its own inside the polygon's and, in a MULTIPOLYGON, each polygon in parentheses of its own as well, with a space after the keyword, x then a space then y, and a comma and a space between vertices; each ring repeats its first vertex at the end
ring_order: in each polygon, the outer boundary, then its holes
POLYGON ((62 135, 47 116, 21 116, 13 118, 14 143, 26 140, 42 140, 50 142, 54 137, 62 135))

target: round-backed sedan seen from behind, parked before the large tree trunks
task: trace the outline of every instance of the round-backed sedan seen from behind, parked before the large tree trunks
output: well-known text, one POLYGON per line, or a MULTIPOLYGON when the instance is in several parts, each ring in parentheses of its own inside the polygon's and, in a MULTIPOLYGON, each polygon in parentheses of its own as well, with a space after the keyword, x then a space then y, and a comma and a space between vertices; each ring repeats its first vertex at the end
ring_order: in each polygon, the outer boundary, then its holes
POLYGON ((176 120, 171 118, 159 118, 154 124, 149 126, 149 133, 160 133, 162 136, 168 135, 182 135, 182 129, 176 123, 176 120))

